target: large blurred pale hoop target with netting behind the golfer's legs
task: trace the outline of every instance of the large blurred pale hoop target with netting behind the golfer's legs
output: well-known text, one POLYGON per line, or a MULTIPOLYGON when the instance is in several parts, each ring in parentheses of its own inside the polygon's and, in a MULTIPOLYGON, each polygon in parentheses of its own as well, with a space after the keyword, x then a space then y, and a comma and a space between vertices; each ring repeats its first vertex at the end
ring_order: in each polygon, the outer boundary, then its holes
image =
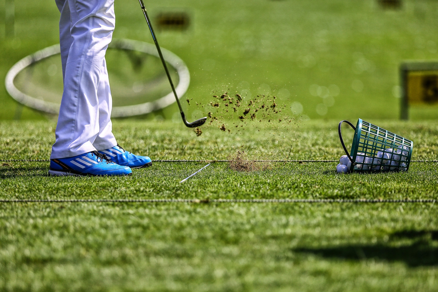
MULTIPOLYGON (((175 84, 183 96, 190 84, 184 61, 162 49, 175 84)), ((137 116, 162 109, 175 102, 155 45, 130 39, 113 39, 106 52, 112 117, 137 116)), ((26 56, 8 71, 7 92, 21 104, 58 114, 62 91, 60 45, 49 46, 26 56)))

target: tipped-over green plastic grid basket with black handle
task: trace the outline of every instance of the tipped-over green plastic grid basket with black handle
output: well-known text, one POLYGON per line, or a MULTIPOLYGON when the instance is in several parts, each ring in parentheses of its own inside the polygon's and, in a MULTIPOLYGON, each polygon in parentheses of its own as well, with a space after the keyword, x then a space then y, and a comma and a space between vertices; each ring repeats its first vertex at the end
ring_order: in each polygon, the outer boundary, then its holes
POLYGON ((349 172, 389 172, 409 170, 413 142, 381 127, 357 120, 356 127, 347 120, 342 120, 338 127, 339 139, 350 159, 349 172), (350 154, 345 147, 341 126, 349 124, 354 129, 350 154))

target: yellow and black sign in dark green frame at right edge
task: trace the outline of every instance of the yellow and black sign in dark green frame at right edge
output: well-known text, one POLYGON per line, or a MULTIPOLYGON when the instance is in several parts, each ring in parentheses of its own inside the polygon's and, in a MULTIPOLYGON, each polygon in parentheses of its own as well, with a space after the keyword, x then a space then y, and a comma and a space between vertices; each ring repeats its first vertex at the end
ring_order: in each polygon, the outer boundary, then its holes
POLYGON ((438 62, 410 62, 400 66, 401 119, 408 119, 410 105, 438 104, 438 62))

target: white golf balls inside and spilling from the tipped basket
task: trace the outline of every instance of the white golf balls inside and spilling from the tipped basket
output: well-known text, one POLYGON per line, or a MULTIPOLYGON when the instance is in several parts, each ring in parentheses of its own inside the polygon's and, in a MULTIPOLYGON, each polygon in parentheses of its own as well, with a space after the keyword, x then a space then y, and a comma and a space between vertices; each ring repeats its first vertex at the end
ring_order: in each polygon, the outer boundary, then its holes
MULTIPOLYGON (((408 155, 406 146, 400 145, 398 149, 387 148, 377 151, 377 155, 370 157, 363 152, 357 152, 356 165, 353 169, 362 170, 400 170, 406 171, 406 158, 408 155)), ((351 156, 350 156, 351 157, 351 156)), ((351 157, 353 159, 353 157, 351 157)), ((349 172, 351 169, 351 161, 347 155, 342 155, 339 159, 339 164, 336 166, 336 171, 339 173, 349 172)))

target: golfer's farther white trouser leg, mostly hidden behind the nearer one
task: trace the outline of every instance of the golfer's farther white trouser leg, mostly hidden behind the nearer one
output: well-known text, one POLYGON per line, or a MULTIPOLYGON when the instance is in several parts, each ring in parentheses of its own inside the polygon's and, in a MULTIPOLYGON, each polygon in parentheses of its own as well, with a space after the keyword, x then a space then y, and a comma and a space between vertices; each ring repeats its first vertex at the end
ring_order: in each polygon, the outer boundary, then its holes
POLYGON ((99 134, 93 146, 100 151, 113 148, 117 145, 116 138, 113 135, 113 124, 111 123, 113 99, 111 97, 111 90, 109 89, 108 70, 106 69, 105 59, 103 59, 102 62, 97 98, 99 99, 99 134))

